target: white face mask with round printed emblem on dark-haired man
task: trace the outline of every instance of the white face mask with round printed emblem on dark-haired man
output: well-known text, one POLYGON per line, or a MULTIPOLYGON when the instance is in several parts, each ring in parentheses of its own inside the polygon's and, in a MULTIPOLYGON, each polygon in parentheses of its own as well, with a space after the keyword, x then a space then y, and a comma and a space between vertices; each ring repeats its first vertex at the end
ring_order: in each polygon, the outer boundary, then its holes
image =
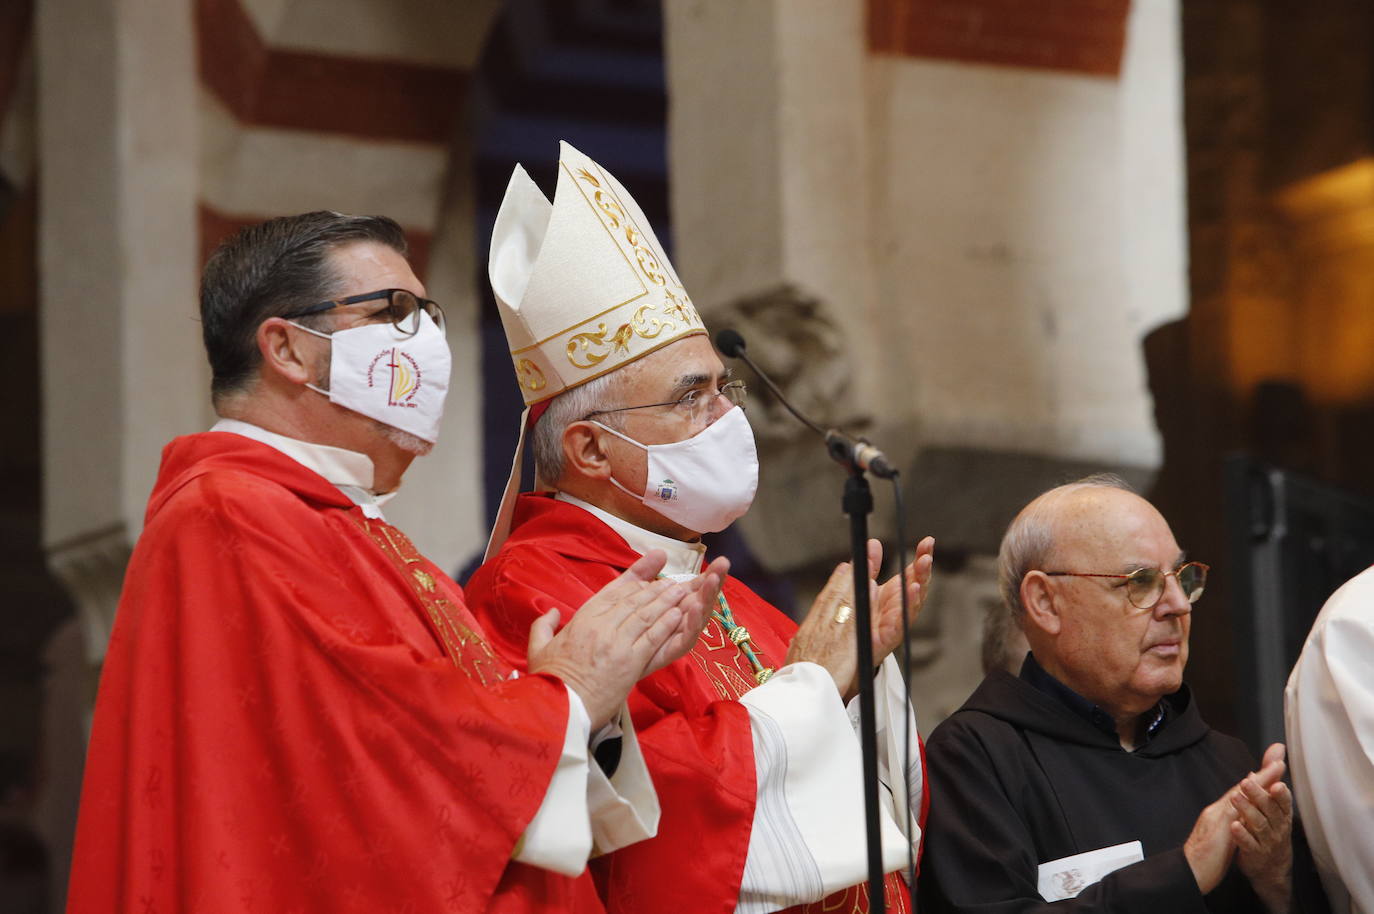
POLYGON ((334 346, 330 389, 305 386, 345 410, 434 444, 448 396, 452 356, 434 319, 425 313, 419 317, 420 328, 412 337, 392 323, 363 324, 333 334, 294 324, 334 346))

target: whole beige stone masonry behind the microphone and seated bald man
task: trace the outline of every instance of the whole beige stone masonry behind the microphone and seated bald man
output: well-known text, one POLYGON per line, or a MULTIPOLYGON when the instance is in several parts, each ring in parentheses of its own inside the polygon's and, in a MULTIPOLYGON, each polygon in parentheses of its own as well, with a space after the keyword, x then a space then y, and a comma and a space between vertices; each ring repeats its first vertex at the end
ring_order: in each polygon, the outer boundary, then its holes
MULTIPOLYGON (((1105 15, 1101 47, 1040 56, 1057 36, 1029 21, 982 45, 875 36, 921 14, 904 0, 724 5, 665 3, 676 265, 804 411, 896 459, 912 537, 970 557, 916 632, 929 726, 982 675, 1014 511, 1160 465, 1142 341, 1187 311, 1178 4, 1109 4, 1114 45, 1105 15)), ((805 592, 846 548, 842 473, 767 394, 750 419, 742 525, 805 592)))

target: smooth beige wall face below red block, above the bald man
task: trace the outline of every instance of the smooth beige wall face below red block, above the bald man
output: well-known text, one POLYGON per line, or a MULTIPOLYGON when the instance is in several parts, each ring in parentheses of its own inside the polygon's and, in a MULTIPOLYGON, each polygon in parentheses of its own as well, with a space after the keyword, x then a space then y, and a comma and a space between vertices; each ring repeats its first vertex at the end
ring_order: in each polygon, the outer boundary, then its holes
POLYGON ((1140 339, 1186 311, 1172 4, 1120 80, 875 56, 886 375, 922 443, 1153 467, 1140 339))

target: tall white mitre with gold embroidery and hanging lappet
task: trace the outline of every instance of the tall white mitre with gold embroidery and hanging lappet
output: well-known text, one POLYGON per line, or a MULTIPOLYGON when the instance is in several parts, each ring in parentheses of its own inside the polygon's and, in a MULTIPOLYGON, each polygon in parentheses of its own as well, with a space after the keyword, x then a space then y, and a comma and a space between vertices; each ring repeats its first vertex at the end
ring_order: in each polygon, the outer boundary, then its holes
POLYGON ((526 405, 491 558, 510 531, 530 407, 537 421, 537 404, 706 327, 635 198, 567 143, 552 203, 515 166, 486 269, 526 405))

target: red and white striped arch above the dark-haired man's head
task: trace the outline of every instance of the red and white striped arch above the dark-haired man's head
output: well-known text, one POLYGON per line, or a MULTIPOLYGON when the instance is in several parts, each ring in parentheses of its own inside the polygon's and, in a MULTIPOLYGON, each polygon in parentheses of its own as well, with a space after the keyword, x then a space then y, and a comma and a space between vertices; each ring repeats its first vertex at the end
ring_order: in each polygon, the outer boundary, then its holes
POLYGON ((337 209, 400 221, 423 276, 499 1, 191 1, 202 257, 242 225, 337 209))

